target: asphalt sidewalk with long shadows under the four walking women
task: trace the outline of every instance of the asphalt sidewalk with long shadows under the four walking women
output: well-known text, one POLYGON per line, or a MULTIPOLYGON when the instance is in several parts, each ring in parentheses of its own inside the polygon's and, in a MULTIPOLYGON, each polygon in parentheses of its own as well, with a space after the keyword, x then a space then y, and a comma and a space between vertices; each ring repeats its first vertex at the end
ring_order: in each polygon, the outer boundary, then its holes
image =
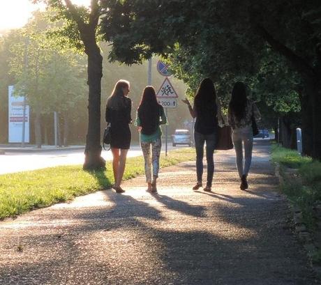
POLYGON ((269 142, 256 141, 248 191, 234 150, 215 154, 211 193, 193 192, 195 162, 161 169, 0 222, 0 284, 319 284, 292 234, 269 142))

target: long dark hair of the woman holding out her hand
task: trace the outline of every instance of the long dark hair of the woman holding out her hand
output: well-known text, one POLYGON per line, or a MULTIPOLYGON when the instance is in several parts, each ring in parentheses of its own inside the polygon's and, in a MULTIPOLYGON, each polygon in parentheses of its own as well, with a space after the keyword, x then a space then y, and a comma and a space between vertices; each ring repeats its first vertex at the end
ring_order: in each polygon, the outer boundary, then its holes
POLYGON ((200 83, 195 94, 194 105, 197 116, 204 112, 214 112, 216 116, 216 91, 210 78, 204 78, 200 83))

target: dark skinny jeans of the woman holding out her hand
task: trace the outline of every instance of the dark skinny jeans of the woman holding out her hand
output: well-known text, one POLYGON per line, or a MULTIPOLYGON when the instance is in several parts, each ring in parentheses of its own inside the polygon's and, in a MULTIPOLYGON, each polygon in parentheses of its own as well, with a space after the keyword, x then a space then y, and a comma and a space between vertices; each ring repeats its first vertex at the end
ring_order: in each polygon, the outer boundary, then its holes
POLYGON ((217 132, 201 134, 200 132, 194 131, 194 141, 196 151, 197 182, 202 183, 204 144, 206 142, 207 187, 211 187, 214 176, 214 150, 217 141, 217 132))

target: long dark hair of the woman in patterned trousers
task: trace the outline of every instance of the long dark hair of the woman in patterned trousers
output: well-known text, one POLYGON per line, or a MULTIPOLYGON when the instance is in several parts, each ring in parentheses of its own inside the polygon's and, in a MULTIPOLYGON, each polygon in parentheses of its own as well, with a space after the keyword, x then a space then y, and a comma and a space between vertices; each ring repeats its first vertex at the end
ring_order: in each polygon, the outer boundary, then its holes
POLYGON ((152 134, 156 131, 159 124, 160 108, 161 105, 157 102, 154 87, 146 86, 137 109, 143 134, 152 134))

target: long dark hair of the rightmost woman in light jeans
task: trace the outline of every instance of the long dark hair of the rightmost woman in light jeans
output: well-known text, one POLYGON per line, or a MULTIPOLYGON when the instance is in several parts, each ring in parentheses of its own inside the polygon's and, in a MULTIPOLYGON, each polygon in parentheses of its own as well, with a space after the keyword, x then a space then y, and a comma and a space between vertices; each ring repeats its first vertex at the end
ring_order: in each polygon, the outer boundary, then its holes
POLYGON ((232 111, 232 114, 234 114, 238 120, 241 120, 245 117, 247 101, 248 99, 246 98, 245 84, 243 82, 235 83, 232 90, 229 107, 232 111))

